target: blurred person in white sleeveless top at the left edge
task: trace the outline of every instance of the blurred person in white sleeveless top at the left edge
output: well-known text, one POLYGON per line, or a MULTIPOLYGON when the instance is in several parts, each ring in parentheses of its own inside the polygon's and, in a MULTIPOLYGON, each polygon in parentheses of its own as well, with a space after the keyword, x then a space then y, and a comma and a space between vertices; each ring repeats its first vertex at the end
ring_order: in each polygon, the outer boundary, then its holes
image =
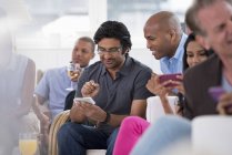
POLYGON ((20 132, 39 132, 36 116, 29 114, 36 64, 13 52, 9 22, 1 9, 0 23, 0 154, 11 155, 20 132))

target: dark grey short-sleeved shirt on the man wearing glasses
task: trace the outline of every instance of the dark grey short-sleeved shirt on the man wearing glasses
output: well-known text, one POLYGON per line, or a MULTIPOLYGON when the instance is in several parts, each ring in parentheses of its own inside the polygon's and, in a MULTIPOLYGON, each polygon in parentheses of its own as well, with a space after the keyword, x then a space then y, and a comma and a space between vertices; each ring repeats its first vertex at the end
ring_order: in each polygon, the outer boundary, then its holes
MULTIPOLYGON (((79 79, 79 89, 75 95, 81 96, 81 87, 83 84, 93 80, 100 85, 100 92, 93 97, 95 104, 105 112, 128 115, 131 112, 133 100, 147 100, 153 95, 145 87, 148 80, 151 78, 151 69, 127 56, 125 63, 117 73, 117 79, 112 80, 104 65, 99 61, 84 70, 79 79)), ((105 124, 102 124, 100 128, 103 126, 105 124)), ((107 130, 108 127, 103 128, 107 130)))

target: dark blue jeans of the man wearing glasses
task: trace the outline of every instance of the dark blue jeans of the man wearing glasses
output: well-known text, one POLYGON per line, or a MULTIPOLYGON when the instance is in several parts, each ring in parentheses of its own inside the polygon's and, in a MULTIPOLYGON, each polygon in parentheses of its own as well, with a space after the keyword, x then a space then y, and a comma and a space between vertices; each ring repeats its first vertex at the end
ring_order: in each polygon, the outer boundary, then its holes
POLYGON ((107 149, 112 155, 118 128, 111 135, 83 124, 68 122, 58 132, 59 155, 85 155, 87 149, 107 149))

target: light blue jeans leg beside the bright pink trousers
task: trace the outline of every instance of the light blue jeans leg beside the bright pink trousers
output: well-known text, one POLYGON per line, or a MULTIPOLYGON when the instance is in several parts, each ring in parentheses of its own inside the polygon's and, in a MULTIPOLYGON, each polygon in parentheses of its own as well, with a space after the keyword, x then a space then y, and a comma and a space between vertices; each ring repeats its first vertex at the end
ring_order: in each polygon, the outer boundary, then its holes
POLYGON ((158 155, 171 144, 190 138, 191 122, 180 116, 167 115, 150 125, 131 155, 158 155))

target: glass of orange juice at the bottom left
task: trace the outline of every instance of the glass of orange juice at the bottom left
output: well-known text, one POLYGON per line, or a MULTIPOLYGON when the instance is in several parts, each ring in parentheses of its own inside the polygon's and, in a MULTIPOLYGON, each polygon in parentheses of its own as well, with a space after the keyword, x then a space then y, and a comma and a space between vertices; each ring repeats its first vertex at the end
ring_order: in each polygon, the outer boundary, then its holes
POLYGON ((34 155, 38 147, 36 133, 19 134, 19 149, 21 155, 34 155))

